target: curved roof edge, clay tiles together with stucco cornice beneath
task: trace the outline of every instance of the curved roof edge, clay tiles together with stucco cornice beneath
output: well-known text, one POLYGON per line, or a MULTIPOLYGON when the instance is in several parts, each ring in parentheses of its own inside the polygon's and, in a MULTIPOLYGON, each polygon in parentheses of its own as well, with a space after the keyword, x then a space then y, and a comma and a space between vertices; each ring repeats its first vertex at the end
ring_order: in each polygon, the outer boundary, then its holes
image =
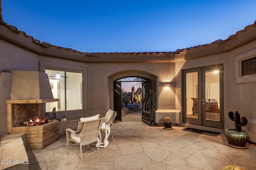
MULTIPOLYGON (((0 5, 1 5, 1 0, 0 0, 0 5)), ((204 57, 207 55, 225 53, 225 52, 231 51, 232 49, 238 48, 246 43, 250 43, 251 41, 256 40, 256 33, 255 33, 254 36, 252 36, 253 34, 246 36, 245 38, 242 38, 242 41, 239 40, 239 42, 236 41, 232 44, 232 41, 234 41, 234 39, 248 35, 247 32, 250 32, 249 31, 250 29, 254 28, 253 30, 255 31, 256 21, 254 21, 254 23, 252 25, 247 25, 246 27, 244 27, 243 30, 237 31, 236 34, 230 35, 225 40, 218 39, 212 43, 208 43, 208 44, 204 44, 204 45, 197 45, 197 46, 188 47, 185 49, 177 49, 176 51, 86 53, 86 52, 77 51, 77 50, 71 49, 71 48, 52 45, 48 42, 41 43, 39 40, 34 39, 34 37, 27 35, 24 31, 18 30, 17 27, 8 25, 8 23, 5 23, 2 19, 1 10, 2 10, 2 8, 0 8, 0 24, 9 29, 9 31, 7 29, 4 29, 4 31, 0 31, 0 37, 2 39, 6 40, 10 43, 13 43, 15 45, 18 45, 22 48, 33 51, 34 53, 37 53, 39 55, 46 55, 46 56, 50 56, 50 57, 70 59, 70 60, 74 60, 74 61, 82 61, 82 62, 88 62, 88 63, 94 63, 94 62, 98 63, 95 60, 96 58, 98 59, 98 57, 104 57, 104 58, 105 57, 107 57, 107 58, 129 57, 130 58, 130 57, 138 57, 138 56, 146 56, 147 59, 150 56, 151 57, 156 57, 156 56, 164 57, 164 59, 158 58, 157 60, 159 60, 159 62, 168 62, 168 61, 173 62, 175 59, 170 59, 170 57, 174 57, 176 55, 185 55, 184 59, 193 59, 193 58, 198 58, 198 57, 204 57), (10 30, 13 33, 15 33, 14 34, 15 36, 10 35, 11 34, 10 30), (17 36, 19 38, 17 38, 17 36), (226 45, 226 44, 230 44, 230 45, 226 45), (37 47, 34 47, 34 45, 36 45, 37 47), (222 47, 222 48, 219 48, 219 47, 222 47), (214 50, 211 50, 211 49, 214 49, 214 50), (202 51, 204 51, 204 52, 202 52, 202 51), (80 56, 80 57, 78 57, 78 56, 80 56), (86 59, 81 59, 81 57, 84 57, 86 59)), ((2 28, 3 27, 1 27, 1 30, 2 30, 2 28)), ((113 61, 114 60, 112 60, 112 62, 113 61)), ((151 59, 149 61, 157 62, 156 59, 151 59)), ((103 60, 103 62, 104 62, 104 60, 103 60)), ((108 63, 109 61, 105 61, 105 62, 108 63)), ((129 62, 130 62, 130 60, 129 60, 129 62)), ((145 62, 145 61, 141 60, 141 62, 145 62)), ((138 61, 136 61, 136 63, 138 63, 138 61)))

